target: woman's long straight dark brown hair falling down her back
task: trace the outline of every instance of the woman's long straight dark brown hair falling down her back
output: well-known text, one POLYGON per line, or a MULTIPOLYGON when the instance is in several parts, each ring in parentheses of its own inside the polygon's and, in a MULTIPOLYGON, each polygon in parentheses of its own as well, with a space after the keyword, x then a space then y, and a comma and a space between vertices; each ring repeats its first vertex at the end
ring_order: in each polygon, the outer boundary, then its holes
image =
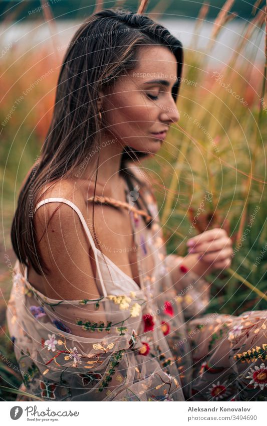
MULTIPOLYGON (((33 211, 40 199, 38 194, 47 183, 53 185, 58 179, 68 178, 74 168, 97 149, 100 129, 107 125, 102 120, 100 127, 99 92, 112 87, 120 75, 136 67, 141 45, 166 46, 175 55, 178 78, 172 96, 176 101, 183 64, 182 44, 148 17, 122 8, 104 9, 85 20, 68 46, 58 79, 51 124, 40 159, 33 166, 34 176, 29 174, 19 194, 11 230, 18 259, 27 266, 31 263, 39 274, 49 269, 35 243, 33 211)), ((131 147, 124 148, 120 173, 129 179, 128 161, 145 156, 146 153, 131 147)))

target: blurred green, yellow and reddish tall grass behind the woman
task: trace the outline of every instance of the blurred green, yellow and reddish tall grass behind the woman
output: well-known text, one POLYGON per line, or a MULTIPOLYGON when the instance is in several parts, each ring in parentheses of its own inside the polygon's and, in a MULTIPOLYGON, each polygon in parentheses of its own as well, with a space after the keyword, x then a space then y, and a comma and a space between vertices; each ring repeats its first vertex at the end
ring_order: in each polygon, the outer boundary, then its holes
MULTIPOLYGON (((44 4, 34 3, 32 9, 44 4)), ((61 3, 64 6, 66 2, 61 3)), ((267 309, 266 60, 265 64, 264 60, 255 61, 260 40, 264 38, 266 11, 264 1, 251 2, 249 11, 246 9, 242 35, 232 46, 227 63, 214 68, 210 59, 220 48, 217 43, 220 31, 237 19, 231 11, 239 16, 244 13, 240 2, 220 2, 221 10, 214 9, 217 3, 209 6, 199 2, 198 8, 192 9, 190 16, 195 17, 197 12, 198 18, 191 44, 185 49, 177 103, 180 121, 169 130, 156 157, 144 161, 143 167, 147 168, 155 188, 168 253, 186 255, 187 238, 214 227, 225 228, 231 236, 235 253, 232 265, 208 276, 212 291, 206 312, 239 315, 247 310, 267 309), (198 34, 205 20, 214 16, 214 10, 216 18, 206 49, 200 51, 198 34), (252 38, 253 48, 247 49, 252 38), (207 197, 207 194, 211 195, 207 197)), ((242 3, 247 7, 248 2, 242 3)), ((88 2, 84 4, 88 6, 88 2)), ((117 5, 130 6, 132 10, 138 7, 137 2, 127 1, 117 5)), ((192 2, 175 2, 175 5, 166 10, 175 13, 179 6, 185 15, 191 12, 192 2)), ((23 42, 17 43, 1 55, 1 122, 8 113, 11 117, 1 126, 0 133, 0 386, 14 389, 12 393, 0 387, 3 400, 15 400, 16 388, 21 383, 5 320, 12 283, 9 265, 14 265, 16 260, 10 227, 21 183, 40 155, 52 117, 64 54, 63 50, 56 49, 56 26, 50 21, 57 11, 55 6, 51 3, 50 8, 44 8, 36 17, 37 27, 42 20, 47 21, 54 34, 53 43, 31 49, 24 49, 23 42)), ((98 6, 101 7, 100 2, 98 6)), ((29 10, 29 5, 27 7, 29 10)), ((10 11, 5 5, 5 11, 3 25, 6 28, 14 23, 16 26, 24 13, 22 5, 10 11)), ((160 21, 166 13, 162 2, 148 5, 146 13, 155 18, 155 12, 156 20, 160 21)), ((85 9, 83 18, 87 14, 85 9)), ((33 18, 26 16, 26 19, 33 18)), ((34 37, 31 33, 31 38, 34 37)))

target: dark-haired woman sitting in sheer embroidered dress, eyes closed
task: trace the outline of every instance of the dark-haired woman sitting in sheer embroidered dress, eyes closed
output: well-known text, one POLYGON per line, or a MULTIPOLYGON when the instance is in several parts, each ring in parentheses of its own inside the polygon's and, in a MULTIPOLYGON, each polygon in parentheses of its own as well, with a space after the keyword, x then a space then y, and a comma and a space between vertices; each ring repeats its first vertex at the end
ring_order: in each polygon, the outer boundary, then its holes
POLYGON ((67 49, 12 226, 8 327, 31 395, 264 399, 266 312, 199 317, 203 275, 230 264, 230 238, 209 230, 195 253, 167 256, 140 167, 179 119, 182 62, 164 27, 124 9, 93 14, 67 49))

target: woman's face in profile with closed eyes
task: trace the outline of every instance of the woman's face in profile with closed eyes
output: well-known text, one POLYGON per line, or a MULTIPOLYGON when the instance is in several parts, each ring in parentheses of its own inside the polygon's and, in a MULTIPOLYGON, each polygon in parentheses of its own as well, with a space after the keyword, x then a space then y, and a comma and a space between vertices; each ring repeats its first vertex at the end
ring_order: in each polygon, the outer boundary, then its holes
POLYGON ((163 46, 139 48, 138 65, 125 76, 120 76, 109 92, 101 92, 102 109, 108 128, 123 147, 156 153, 166 136, 157 132, 169 129, 179 120, 172 97, 177 80, 177 62, 170 50, 163 46), (155 80, 153 82, 153 80, 155 80))

